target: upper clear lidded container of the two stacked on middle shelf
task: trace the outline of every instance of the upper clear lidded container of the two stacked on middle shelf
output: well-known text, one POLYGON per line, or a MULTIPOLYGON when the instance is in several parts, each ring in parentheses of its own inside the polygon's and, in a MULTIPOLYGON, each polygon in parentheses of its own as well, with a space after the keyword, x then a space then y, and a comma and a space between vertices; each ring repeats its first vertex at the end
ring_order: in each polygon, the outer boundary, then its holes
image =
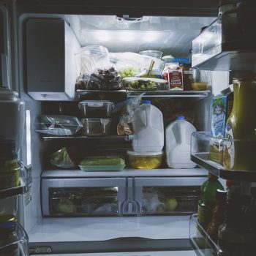
POLYGON ((83 100, 78 103, 78 108, 85 117, 109 117, 114 104, 108 100, 83 100))

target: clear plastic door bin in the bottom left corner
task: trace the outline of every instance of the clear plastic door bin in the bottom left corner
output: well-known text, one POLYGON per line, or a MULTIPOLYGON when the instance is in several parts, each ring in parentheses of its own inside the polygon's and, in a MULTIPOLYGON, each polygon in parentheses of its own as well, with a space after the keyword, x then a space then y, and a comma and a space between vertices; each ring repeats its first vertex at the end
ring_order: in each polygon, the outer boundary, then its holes
POLYGON ((3 256, 29 256, 29 237, 26 231, 17 222, 15 227, 17 239, 10 242, 10 244, 0 245, 0 255, 3 256))

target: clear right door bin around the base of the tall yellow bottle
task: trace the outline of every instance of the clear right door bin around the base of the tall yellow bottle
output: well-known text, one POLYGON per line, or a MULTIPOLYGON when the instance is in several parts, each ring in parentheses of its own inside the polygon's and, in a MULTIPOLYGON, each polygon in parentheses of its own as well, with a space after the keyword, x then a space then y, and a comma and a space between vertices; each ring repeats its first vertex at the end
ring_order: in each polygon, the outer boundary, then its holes
MULTIPOLYGON (((222 165, 222 155, 224 150, 223 148, 225 148, 225 145, 227 143, 230 143, 230 141, 231 140, 211 138, 210 132, 194 132, 192 134, 191 159, 200 167, 205 168, 206 170, 208 170, 209 172, 213 173, 216 176, 219 176, 220 178, 251 182, 256 181, 256 169, 230 170, 222 165), (217 148, 217 151, 215 150, 210 152, 211 148, 213 148, 212 145, 214 145, 217 148)), ((244 146, 245 143, 248 143, 248 151, 246 152, 246 157, 250 157, 249 148, 256 146, 256 141, 250 140, 232 140, 231 142, 233 143, 233 146, 235 148, 235 156, 237 157, 237 159, 240 160, 241 158, 238 157, 238 150, 240 150, 241 154, 241 149, 246 148, 246 146, 244 146)), ((252 151, 252 155, 253 153, 254 151, 252 151)))

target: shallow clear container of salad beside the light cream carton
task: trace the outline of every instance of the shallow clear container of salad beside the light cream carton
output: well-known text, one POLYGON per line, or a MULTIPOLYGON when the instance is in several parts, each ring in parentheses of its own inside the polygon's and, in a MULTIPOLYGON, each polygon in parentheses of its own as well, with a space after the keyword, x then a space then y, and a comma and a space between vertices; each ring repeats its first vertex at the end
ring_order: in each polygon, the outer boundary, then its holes
POLYGON ((165 79, 158 78, 124 78, 122 80, 124 89, 138 91, 165 91, 168 83, 165 79))

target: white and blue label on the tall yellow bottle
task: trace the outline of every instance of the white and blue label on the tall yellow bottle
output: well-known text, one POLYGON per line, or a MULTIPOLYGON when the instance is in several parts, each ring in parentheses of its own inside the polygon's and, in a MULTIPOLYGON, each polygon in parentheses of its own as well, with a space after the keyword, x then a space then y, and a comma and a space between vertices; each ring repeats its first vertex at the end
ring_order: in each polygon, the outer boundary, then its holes
POLYGON ((231 124, 227 123, 225 131, 225 149, 223 153, 223 165, 226 168, 233 168, 235 163, 235 145, 234 145, 234 136, 233 129, 231 124))

